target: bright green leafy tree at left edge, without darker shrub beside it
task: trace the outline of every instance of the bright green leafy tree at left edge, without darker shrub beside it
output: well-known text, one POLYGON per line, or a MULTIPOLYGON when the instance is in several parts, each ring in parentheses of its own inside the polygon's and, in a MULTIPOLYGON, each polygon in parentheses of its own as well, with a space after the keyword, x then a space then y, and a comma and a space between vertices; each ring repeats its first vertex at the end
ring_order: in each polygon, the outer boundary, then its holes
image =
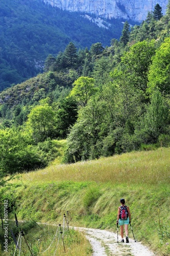
POLYGON ((36 152, 34 146, 29 145, 28 140, 28 134, 22 133, 19 130, 0 130, 1 176, 7 176, 15 172, 22 172, 27 168, 32 169, 34 164, 40 163, 38 152, 36 152), (32 161, 34 162, 33 165, 32 161), (30 168, 28 166, 30 166, 30 168))

